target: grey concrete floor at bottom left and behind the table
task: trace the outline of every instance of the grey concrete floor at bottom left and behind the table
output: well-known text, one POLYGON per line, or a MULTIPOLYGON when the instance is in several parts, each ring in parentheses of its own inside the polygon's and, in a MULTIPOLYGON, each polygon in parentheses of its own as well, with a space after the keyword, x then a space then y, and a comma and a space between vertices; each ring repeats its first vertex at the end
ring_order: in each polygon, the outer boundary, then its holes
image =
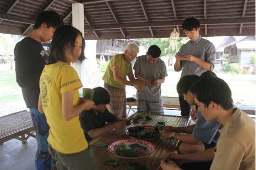
MULTIPOLYGON (((133 107, 137 111, 136 107, 133 107)), ((129 109, 127 109, 128 112, 129 109)), ((164 110, 165 114, 180 115, 178 110, 164 110)), ((129 115, 133 114, 130 111, 129 115)), ((0 145, 0 170, 35 170, 36 139, 30 137, 27 144, 12 139, 0 145)))

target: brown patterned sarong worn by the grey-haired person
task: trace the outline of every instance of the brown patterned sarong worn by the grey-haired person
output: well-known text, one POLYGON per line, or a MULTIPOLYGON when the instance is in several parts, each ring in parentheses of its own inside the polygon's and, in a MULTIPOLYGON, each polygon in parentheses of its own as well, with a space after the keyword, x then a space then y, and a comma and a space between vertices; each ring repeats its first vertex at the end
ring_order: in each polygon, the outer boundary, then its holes
POLYGON ((113 88, 106 88, 106 91, 110 93, 110 104, 106 105, 108 110, 120 117, 126 118, 126 94, 125 89, 113 89, 113 88))

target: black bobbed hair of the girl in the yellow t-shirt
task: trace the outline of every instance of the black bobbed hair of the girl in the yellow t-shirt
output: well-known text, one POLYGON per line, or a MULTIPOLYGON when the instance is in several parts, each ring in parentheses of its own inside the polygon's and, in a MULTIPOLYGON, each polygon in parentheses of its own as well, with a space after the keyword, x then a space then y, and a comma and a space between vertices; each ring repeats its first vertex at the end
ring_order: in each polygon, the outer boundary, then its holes
MULTIPOLYGON (((60 26, 58 27, 52 37, 52 42, 50 45, 50 53, 48 57, 48 64, 56 63, 58 60, 66 62, 65 50, 70 48, 70 53, 74 55, 75 41, 78 35, 82 36, 82 33, 72 26, 60 26)), ((82 62, 86 57, 84 56, 84 48, 86 47, 86 42, 82 37, 82 52, 78 58, 79 62, 82 62)))

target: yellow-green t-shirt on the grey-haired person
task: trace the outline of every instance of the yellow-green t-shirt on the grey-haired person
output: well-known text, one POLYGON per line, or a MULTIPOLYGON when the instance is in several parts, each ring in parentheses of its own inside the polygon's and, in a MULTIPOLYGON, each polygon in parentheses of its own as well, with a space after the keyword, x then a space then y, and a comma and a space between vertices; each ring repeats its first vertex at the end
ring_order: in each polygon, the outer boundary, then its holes
POLYGON ((113 65, 116 65, 120 68, 120 77, 126 80, 126 76, 130 74, 132 71, 132 64, 131 62, 127 63, 122 54, 115 55, 111 58, 108 67, 106 68, 105 74, 102 78, 106 83, 111 86, 124 89, 125 85, 122 85, 114 80, 113 74, 113 65))

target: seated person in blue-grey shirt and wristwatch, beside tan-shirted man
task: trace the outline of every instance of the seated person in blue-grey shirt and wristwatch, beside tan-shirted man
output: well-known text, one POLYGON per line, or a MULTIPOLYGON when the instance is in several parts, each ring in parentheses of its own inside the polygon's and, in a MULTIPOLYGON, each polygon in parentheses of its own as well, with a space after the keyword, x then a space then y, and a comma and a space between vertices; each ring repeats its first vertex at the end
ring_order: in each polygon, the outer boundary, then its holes
MULTIPOLYGON (((190 91, 190 86, 200 80, 199 76, 183 76, 177 84, 177 92, 183 95, 184 100, 191 106, 196 105, 195 95, 190 91)), ((201 152, 216 146, 219 137, 219 122, 215 120, 206 122, 201 113, 197 112, 197 123, 187 127, 166 126, 161 135, 167 138, 174 138, 182 141, 179 147, 179 154, 190 154, 201 152)))

